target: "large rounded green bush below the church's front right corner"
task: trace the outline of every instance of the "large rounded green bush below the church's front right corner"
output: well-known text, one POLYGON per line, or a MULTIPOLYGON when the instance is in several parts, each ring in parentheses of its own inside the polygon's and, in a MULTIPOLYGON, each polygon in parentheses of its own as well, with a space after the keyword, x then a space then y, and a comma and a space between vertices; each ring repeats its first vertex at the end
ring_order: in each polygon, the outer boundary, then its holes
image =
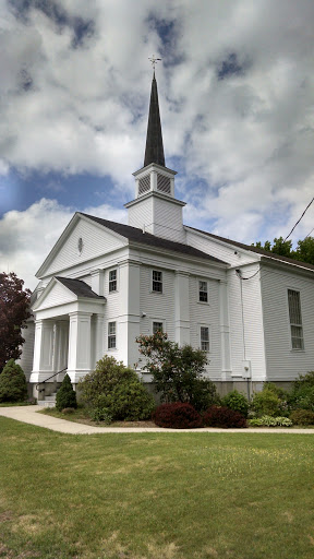
POLYGON ((78 386, 82 402, 97 421, 147 419, 155 408, 136 372, 114 357, 102 357, 78 386))

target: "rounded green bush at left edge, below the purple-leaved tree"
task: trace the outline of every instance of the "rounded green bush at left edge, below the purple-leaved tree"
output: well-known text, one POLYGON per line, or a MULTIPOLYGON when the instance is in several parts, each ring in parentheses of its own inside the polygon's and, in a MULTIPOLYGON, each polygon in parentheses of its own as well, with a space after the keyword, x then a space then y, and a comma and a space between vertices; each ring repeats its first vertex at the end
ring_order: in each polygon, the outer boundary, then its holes
POLYGON ((0 374, 0 402, 23 402, 27 397, 27 384, 23 369, 10 359, 0 374))

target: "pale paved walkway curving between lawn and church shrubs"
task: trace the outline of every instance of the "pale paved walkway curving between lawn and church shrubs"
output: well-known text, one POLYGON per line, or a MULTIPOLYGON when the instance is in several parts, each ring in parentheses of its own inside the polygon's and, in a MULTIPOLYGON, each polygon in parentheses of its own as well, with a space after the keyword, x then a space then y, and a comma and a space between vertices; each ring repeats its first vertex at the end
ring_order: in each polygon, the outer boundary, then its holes
POLYGON ((314 429, 270 429, 270 428, 250 428, 250 429, 213 429, 205 427, 203 429, 162 429, 160 427, 94 427, 89 425, 75 424, 73 421, 67 421, 67 419, 57 419, 45 414, 37 414, 41 406, 14 406, 14 407, 0 407, 0 416, 9 417, 10 419, 16 419, 24 424, 36 425, 37 427, 45 427, 52 431, 67 432, 70 435, 94 435, 101 432, 102 435, 108 432, 271 432, 273 435, 287 433, 290 435, 314 435, 314 429))

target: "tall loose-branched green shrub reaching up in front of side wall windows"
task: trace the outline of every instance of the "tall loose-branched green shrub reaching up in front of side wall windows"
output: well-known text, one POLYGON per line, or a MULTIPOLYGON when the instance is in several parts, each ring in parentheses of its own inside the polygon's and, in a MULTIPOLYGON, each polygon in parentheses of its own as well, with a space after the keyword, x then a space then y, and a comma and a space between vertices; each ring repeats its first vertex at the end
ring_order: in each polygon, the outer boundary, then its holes
POLYGON ((146 357, 145 369, 153 376, 156 392, 166 403, 183 402, 197 411, 217 402, 215 384, 204 378, 205 352, 191 345, 179 347, 164 332, 136 338, 140 354, 146 357))

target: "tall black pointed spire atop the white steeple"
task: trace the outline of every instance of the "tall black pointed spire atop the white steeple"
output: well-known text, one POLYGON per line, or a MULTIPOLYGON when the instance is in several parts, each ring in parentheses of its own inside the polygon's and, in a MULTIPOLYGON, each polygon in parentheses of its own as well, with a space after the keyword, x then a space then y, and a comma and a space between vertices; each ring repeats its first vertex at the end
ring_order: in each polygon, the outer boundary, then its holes
POLYGON ((150 163, 166 167, 155 72, 152 82, 144 167, 150 163))

